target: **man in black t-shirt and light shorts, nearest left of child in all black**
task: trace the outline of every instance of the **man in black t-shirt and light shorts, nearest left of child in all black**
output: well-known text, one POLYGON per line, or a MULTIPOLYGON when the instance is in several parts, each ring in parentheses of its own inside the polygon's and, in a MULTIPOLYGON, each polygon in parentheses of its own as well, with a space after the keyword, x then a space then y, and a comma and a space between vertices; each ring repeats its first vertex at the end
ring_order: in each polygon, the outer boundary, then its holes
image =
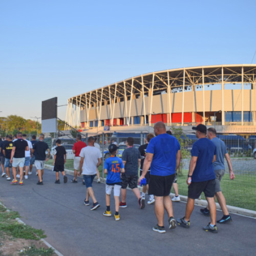
POLYGON ((44 175, 45 162, 49 160, 50 150, 48 144, 44 141, 45 135, 39 135, 39 141, 34 145, 33 151, 35 154, 35 167, 38 174, 38 182, 37 185, 43 185, 42 176, 44 175), (46 151, 48 152, 46 156, 46 151))

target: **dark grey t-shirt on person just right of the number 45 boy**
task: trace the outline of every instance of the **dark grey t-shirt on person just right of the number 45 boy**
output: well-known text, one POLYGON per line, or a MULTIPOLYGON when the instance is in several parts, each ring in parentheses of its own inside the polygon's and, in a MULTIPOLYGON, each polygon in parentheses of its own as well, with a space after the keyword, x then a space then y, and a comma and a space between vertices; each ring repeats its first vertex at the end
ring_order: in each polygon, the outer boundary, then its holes
POLYGON ((126 161, 124 165, 126 175, 138 175, 140 152, 135 147, 128 147, 123 151, 122 160, 126 161))

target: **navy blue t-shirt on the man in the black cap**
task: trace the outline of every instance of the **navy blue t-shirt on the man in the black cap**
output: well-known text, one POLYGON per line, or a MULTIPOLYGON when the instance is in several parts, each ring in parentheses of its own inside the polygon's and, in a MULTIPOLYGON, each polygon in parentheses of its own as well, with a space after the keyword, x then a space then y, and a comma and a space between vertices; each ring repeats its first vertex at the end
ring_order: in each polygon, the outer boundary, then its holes
POLYGON ((191 177, 193 182, 201 182, 207 180, 214 180, 214 160, 216 155, 216 146, 207 138, 197 140, 191 150, 191 156, 198 157, 194 173, 191 177))

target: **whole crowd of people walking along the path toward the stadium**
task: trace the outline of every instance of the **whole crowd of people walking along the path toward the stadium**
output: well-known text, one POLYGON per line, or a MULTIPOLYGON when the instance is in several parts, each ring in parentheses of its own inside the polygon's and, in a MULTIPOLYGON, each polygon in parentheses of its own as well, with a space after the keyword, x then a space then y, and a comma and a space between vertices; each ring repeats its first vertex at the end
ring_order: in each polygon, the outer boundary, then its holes
MULTIPOLYGON (((120 220, 119 207, 126 208, 126 189, 129 186, 138 200, 140 209, 145 207, 145 195, 148 194, 147 204, 155 204, 155 215, 157 224, 153 227, 159 233, 166 232, 163 219, 164 210, 168 215, 168 228, 174 229, 177 224, 189 228, 190 216, 194 209, 195 199, 204 193, 208 202, 207 207, 200 209, 203 215, 210 216, 210 222, 204 226, 205 231, 217 232, 216 226, 216 204, 215 197, 222 208, 223 217, 218 223, 231 222, 231 216, 226 207, 225 197, 221 192, 220 181, 225 173, 224 158, 226 158, 229 168, 230 179, 234 179, 232 165, 226 150, 225 143, 217 138, 216 130, 212 127, 206 128, 199 124, 193 127, 198 140, 193 144, 191 159, 188 170, 188 198, 183 218, 174 218, 172 201, 180 201, 177 185, 177 169, 181 161, 181 148, 179 141, 172 136, 170 131, 166 132, 163 122, 154 125, 154 134, 148 134, 145 144, 139 149, 133 147, 132 137, 126 140, 126 149, 122 153, 122 158, 117 157, 118 145, 112 143, 109 146, 110 157, 104 162, 103 172, 106 174, 105 201, 106 209, 103 216, 111 217, 110 196, 113 190, 115 199, 115 220, 120 220), (140 177, 138 177, 140 169, 140 177), (142 192, 138 188, 142 185, 142 192), (175 197, 170 199, 170 189, 175 189, 175 197), (119 198, 121 197, 121 200, 119 198)), ((102 163, 102 155, 99 146, 95 142, 95 137, 88 138, 88 145, 81 141, 81 135, 77 134, 76 143, 73 146, 74 158, 74 179, 77 183, 77 176, 83 178, 87 192, 84 205, 90 205, 90 198, 93 201, 91 210, 100 207, 94 191, 93 180, 97 177, 100 181, 98 167, 102 163)), ((65 163, 67 152, 61 146, 61 140, 56 140, 56 154, 53 160, 53 170, 56 173, 56 184, 60 183, 59 172, 63 175, 63 182, 67 183, 65 175, 65 163)), ((27 140, 26 134, 17 133, 16 138, 11 135, 5 141, 0 141, 2 177, 6 176, 11 180, 10 168, 12 168, 13 179, 11 184, 23 185, 23 176, 28 179, 32 174, 32 166, 35 164, 38 185, 43 185, 45 162, 50 157, 50 150, 44 142, 44 134, 39 135, 39 141, 32 136, 32 141, 27 140), (47 154, 46 154, 47 152, 47 154), (6 172, 5 172, 6 168, 6 172), (25 175, 24 175, 25 173, 25 175)))

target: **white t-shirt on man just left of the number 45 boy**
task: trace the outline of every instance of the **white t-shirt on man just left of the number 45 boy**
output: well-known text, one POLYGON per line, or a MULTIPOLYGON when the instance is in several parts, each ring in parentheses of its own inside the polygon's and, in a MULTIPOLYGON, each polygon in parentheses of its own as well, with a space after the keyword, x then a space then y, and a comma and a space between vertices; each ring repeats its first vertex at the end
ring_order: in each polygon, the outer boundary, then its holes
POLYGON ((95 146, 83 147, 79 156, 84 158, 82 165, 82 174, 96 174, 98 159, 102 157, 100 150, 95 146))

